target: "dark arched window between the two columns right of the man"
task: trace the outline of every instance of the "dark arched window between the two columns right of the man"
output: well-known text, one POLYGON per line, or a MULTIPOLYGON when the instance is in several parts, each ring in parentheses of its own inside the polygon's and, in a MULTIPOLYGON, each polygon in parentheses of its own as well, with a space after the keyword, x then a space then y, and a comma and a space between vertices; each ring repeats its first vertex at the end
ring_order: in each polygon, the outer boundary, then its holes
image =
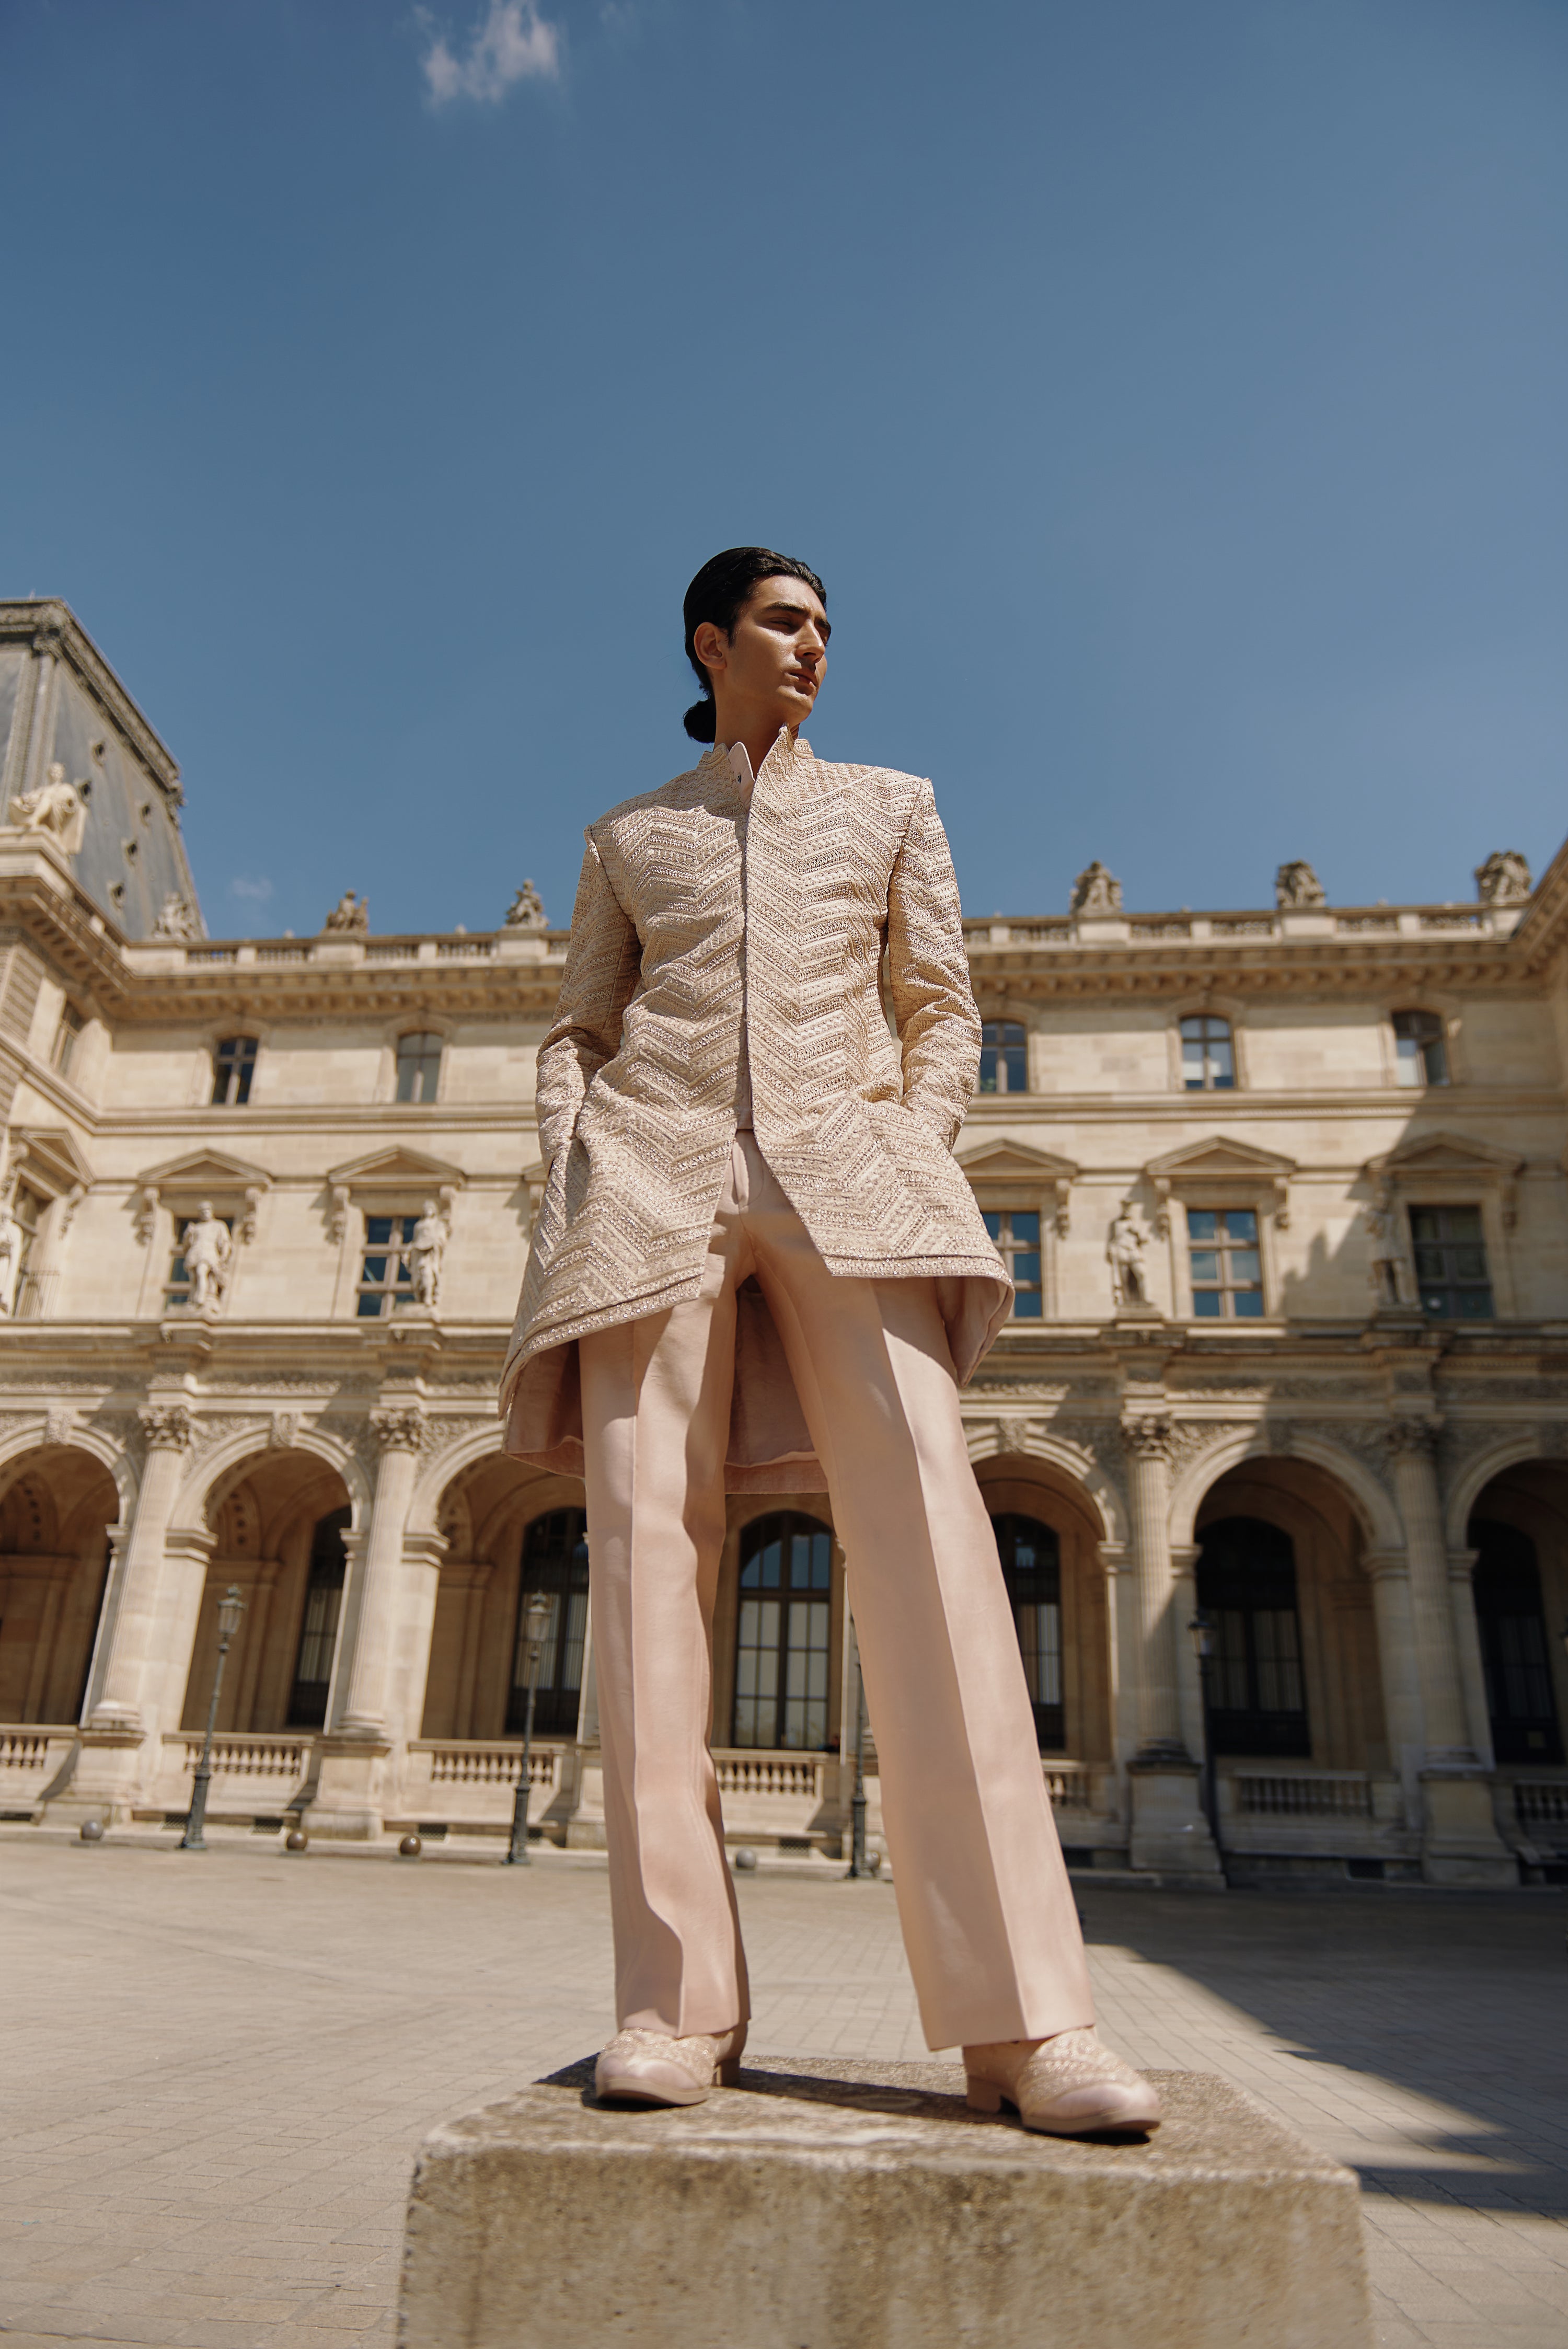
POLYGON ((1291 1536, 1263 1517, 1221 1517, 1199 1541, 1197 1604, 1214 1623, 1211 1750, 1310 1755, 1291 1536))

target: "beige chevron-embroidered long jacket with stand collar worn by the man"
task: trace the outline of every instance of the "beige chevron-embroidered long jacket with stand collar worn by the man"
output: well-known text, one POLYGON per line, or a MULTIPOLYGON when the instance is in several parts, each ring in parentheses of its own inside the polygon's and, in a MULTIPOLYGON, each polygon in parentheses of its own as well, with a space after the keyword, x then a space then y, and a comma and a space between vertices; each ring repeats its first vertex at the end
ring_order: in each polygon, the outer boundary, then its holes
MULTIPOLYGON (((951 1156, 979 1015, 930 782, 779 735, 746 794, 716 745, 587 832, 540 1048, 549 1182, 502 1374, 521 1459, 582 1470, 575 1339, 697 1294, 744 1062, 758 1146, 829 1271, 934 1278, 960 1379, 1007 1318, 951 1156)), ((800 1407, 756 1297, 730 1433, 732 1487, 803 1482, 800 1407)))

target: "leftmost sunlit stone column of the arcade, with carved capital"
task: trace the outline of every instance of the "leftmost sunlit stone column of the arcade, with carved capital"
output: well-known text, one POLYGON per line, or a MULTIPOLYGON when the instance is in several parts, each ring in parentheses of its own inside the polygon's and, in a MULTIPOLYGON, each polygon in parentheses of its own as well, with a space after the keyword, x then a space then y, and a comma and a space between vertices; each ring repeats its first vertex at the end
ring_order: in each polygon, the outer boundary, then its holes
MULTIPOLYGON (((129 1823, 162 1759, 155 1734, 167 1724, 155 1715, 155 1696, 169 1672, 169 1642, 162 1637, 164 1546, 192 1421, 183 1402, 150 1402, 136 1416, 148 1440, 136 1513, 115 1557, 113 1586, 103 1595, 101 1654, 94 1658, 96 1696, 80 1729, 77 1766, 70 1785, 47 1806, 52 1820, 129 1823)), ((188 1668, 190 1651, 185 1651, 188 1668)))

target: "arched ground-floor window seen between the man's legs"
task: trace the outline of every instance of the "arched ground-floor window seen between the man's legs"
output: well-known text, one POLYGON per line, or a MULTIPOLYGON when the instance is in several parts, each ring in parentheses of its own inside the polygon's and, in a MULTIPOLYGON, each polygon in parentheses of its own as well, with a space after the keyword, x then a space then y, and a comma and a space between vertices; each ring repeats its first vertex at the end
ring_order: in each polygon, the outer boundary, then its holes
POLYGON ((735 1745, 822 1752, 829 1743, 833 1536, 777 1510, 739 1536, 735 1745))

